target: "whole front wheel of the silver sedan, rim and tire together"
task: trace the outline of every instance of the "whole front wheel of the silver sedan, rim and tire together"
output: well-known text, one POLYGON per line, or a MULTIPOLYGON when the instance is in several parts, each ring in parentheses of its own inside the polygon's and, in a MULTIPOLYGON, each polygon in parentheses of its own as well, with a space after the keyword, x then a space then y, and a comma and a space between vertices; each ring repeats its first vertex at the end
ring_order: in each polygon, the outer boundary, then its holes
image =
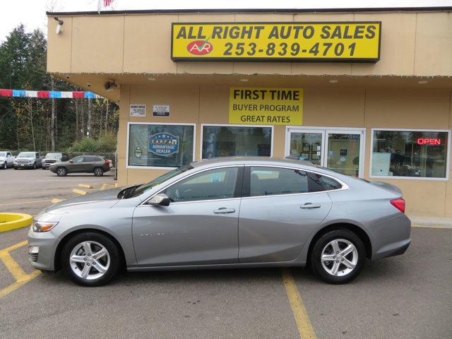
POLYGON ((69 239, 61 266, 74 283, 101 286, 117 273, 121 257, 116 244, 103 234, 88 232, 69 239))

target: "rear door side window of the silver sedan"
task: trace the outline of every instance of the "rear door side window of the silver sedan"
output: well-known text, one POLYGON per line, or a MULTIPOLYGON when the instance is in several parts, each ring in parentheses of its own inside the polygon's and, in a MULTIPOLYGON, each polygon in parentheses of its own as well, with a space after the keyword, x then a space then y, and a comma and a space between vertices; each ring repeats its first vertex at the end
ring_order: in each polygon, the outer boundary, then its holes
POLYGON ((274 196, 308 192, 307 173, 299 169, 251 167, 250 196, 274 196))

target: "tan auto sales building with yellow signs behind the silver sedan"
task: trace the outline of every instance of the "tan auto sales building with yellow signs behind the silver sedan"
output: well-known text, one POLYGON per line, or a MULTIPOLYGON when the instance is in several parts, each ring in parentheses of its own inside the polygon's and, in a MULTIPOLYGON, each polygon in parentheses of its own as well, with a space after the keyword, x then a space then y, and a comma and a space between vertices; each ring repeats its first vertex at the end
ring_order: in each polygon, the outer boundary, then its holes
POLYGON ((121 107, 120 185, 291 156, 452 217, 452 8, 48 16, 48 71, 121 107))

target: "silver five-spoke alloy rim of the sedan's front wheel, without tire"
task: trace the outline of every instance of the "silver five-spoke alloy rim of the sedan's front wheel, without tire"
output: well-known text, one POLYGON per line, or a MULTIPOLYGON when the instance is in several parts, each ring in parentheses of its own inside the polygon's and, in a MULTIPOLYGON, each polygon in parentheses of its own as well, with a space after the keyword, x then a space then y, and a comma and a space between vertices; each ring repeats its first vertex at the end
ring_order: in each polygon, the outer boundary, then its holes
POLYGON ((110 255, 102 244, 86 241, 76 245, 69 256, 71 270, 85 280, 101 278, 110 266, 110 255))

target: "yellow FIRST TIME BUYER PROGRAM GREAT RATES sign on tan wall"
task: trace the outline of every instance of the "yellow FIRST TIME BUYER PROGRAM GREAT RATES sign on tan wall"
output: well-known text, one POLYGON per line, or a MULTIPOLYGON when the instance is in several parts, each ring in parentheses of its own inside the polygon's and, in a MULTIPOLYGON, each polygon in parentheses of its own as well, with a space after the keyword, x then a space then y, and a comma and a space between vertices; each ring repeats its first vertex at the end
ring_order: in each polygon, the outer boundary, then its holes
POLYGON ((231 88, 229 123, 302 125, 302 88, 231 88))

